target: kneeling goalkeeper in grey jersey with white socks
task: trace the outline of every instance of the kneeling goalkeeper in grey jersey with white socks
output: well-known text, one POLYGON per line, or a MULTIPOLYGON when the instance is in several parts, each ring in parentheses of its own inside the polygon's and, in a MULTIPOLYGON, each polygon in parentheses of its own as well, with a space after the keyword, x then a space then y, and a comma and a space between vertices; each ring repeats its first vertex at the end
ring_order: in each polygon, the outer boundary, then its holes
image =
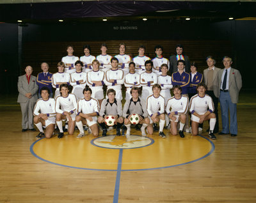
POLYGON ((132 95, 131 100, 127 100, 125 102, 124 109, 123 109, 123 117, 125 117, 124 125, 127 128, 125 135, 126 136, 131 135, 130 119, 132 114, 138 114, 140 117, 140 124, 142 124, 141 135, 146 136, 145 128, 148 126, 150 122, 148 119, 146 103, 144 100, 139 98, 139 87, 132 87, 131 95, 132 95))

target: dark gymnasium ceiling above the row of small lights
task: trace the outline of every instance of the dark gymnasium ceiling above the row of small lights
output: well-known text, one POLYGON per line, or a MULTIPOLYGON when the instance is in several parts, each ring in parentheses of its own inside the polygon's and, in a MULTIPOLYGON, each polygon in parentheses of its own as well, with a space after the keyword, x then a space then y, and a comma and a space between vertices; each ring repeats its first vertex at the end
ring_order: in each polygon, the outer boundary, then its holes
POLYGON ((256 1, 1 0, 0 22, 44 24, 148 20, 256 19, 256 1))

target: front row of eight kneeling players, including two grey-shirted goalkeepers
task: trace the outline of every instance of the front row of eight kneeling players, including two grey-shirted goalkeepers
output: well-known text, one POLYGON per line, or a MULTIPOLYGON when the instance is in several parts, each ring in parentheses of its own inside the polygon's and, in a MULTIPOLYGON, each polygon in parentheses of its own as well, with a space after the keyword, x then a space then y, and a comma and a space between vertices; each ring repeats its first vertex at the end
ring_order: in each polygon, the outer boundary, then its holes
POLYGON ((83 89, 84 98, 81 98, 76 102, 76 96, 69 94, 68 84, 61 84, 60 96, 54 99, 49 98, 50 91, 47 87, 43 87, 40 90, 42 96, 36 102, 34 109, 34 122, 40 133, 36 138, 47 137, 51 138, 54 131, 55 117, 56 124, 60 130, 58 138, 63 137, 62 120, 68 121, 68 133, 73 135, 75 124, 79 129, 79 135, 77 138, 84 137, 83 124, 89 126, 89 133, 92 133, 95 137, 99 135, 98 123, 102 127, 102 136, 106 136, 107 129, 105 123, 108 122, 108 117, 111 116, 116 122, 116 135, 121 135, 120 128, 125 124, 127 127, 126 136, 131 134, 131 116, 132 114, 138 114, 140 119, 141 135, 145 136, 145 128, 147 128, 148 134, 153 133, 153 123, 159 123, 159 136, 165 138, 163 133, 164 128, 164 112, 168 115, 171 122, 170 132, 172 135, 177 135, 177 123, 179 126, 179 135, 184 137, 183 128, 186 121, 186 113, 189 110, 192 114, 192 135, 198 134, 198 124, 203 123, 205 120, 210 120, 209 137, 215 139, 213 134, 214 125, 216 123, 216 116, 213 113, 214 107, 212 105, 212 99, 205 94, 207 87, 204 84, 198 84, 198 94, 191 98, 188 103, 188 97, 182 96, 182 89, 180 86, 173 87, 174 96, 167 101, 166 108, 164 107, 165 100, 161 96, 161 86, 154 84, 152 86, 153 94, 148 96, 147 101, 139 97, 138 87, 131 88, 131 99, 127 100, 122 109, 122 102, 115 98, 115 89, 108 89, 108 99, 102 101, 99 108, 99 101, 92 98, 92 89, 85 87, 83 89), (209 109, 209 110, 208 110, 209 109), (97 117, 99 116, 99 117, 97 117), (45 134, 42 126, 46 127, 45 134))

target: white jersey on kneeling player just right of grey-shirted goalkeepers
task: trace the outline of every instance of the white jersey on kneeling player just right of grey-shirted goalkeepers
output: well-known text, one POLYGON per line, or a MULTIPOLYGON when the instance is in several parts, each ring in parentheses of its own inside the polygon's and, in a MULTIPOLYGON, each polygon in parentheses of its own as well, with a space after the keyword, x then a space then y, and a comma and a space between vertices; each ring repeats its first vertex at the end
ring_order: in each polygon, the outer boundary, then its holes
POLYGON ((148 96, 146 104, 148 115, 151 117, 154 113, 158 112, 159 114, 164 113, 164 98, 159 95, 157 98, 154 97, 154 94, 148 96))

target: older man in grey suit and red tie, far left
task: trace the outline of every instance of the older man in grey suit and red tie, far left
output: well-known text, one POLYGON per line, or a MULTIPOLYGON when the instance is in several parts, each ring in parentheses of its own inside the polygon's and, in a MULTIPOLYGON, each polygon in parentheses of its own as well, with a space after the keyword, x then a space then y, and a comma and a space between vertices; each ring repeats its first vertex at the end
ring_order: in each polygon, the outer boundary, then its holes
POLYGON ((36 131, 33 126, 33 109, 38 99, 36 77, 31 75, 33 68, 27 66, 25 71, 26 74, 20 76, 18 80, 19 96, 17 100, 22 112, 22 132, 26 132, 28 129, 36 131))

